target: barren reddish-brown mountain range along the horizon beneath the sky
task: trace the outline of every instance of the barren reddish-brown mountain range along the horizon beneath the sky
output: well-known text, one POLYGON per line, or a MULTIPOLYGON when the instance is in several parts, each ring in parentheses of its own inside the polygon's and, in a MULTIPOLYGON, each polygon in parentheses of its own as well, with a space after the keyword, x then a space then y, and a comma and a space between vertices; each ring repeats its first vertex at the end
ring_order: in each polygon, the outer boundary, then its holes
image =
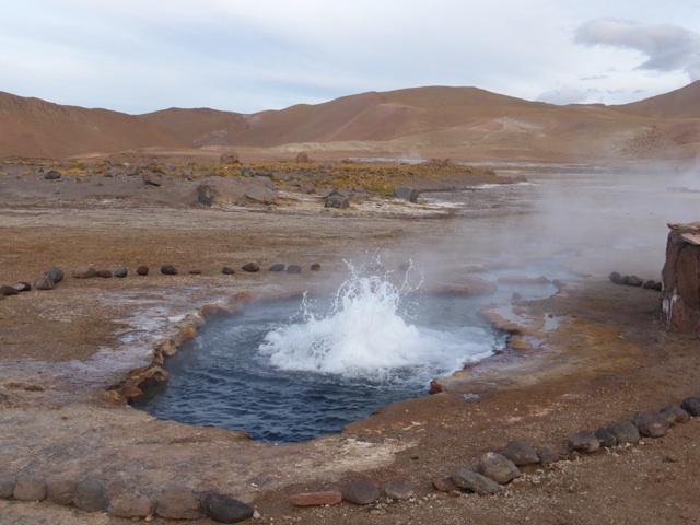
POLYGON ((243 115, 171 108, 139 116, 0 93, 0 153, 66 156, 139 148, 257 155, 581 160, 692 155, 700 82, 633 104, 556 106, 477 88, 416 88, 243 115))

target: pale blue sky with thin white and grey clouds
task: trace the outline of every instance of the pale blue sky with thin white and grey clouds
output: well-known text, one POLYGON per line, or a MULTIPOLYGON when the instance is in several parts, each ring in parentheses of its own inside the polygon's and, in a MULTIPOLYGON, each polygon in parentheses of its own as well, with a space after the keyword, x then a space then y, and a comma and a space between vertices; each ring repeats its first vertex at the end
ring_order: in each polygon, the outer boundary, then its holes
POLYGON ((0 91, 130 114, 421 85, 621 104, 700 80, 698 0, 22 0, 0 21, 0 91))

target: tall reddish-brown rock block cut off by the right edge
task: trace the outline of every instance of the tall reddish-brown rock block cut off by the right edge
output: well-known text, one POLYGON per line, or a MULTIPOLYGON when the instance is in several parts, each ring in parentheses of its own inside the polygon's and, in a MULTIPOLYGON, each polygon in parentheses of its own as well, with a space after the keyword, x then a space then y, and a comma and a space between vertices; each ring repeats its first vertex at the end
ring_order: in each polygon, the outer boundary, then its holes
POLYGON ((668 228, 662 320, 670 331, 700 336, 700 222, 668 228))

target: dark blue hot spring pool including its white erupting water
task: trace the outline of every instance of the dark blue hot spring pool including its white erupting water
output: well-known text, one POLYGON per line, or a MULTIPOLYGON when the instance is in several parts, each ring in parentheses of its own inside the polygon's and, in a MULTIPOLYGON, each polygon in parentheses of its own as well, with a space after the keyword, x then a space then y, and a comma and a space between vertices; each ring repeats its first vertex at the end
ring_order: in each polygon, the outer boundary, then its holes
POLYGON ((330 298, 253 302, 207 324, 166 361, 168 382, 135 406, 261 442, 335 434, 503 348, 478 316, 491 301, 353 272, 330 298))

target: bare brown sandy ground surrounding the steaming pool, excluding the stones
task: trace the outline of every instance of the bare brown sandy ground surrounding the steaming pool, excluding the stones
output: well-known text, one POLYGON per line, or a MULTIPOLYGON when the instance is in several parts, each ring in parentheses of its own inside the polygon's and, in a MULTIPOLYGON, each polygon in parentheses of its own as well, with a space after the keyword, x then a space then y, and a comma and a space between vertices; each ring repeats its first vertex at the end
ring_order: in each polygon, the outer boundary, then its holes
MULTIPOLYGON (((207 304, 328 288, 343 278, 343 258, 378 252, 387 265, 398 266, 417 252, 444 250, 456 232, 483 246, 498 219, 465 222, 425 207, 387 203, 329 211, 292 198, 273 209, 210 210, 183 203, 175 194, 142 198, 143 191, 163 188, 80 198, 89 184, 34 177, 31 190, 22 177, 0 180, 0 283, 33 281, 54 265, 70 271, 83 264, 131 270, 173 264, 182 271, 69 277, 52 291, 0 301, 3 471, 97 476, 113 493, 158 494, 171 482, 184 482, 250 503, 258 523, 700 523, 697 419, 637 446, 533 468, 494 497, 455 497, 431 488, 433 479, 456 466, 472 467, 483 452, 510 440, 563 456, 572 432, 700 395, 698 341, 662 329, 655 292, 615 285, 603 273, 564 282, 552 298, 508 308, 515 323, 530 327, 533 349, 471 369, 450 392, 386 407, 342 434, 265 445, 221 429, 156 421, 106 388, 148 364, 153 349, 207 304), (224 265, 237 269, 249 260, 264 268, 299 264, 305 271, 220 272, 224 265), (322 265, 320 272, 306 270, 313 262, 322 265), (202 273, 186 273, 194 268, 202 273), (557 323, 547 322, 551 318, 557 323), (288 503, 294 492, 336 489, 358 477, 407 479, 416 498, 370 508, 343 503, 310 510, 288 503)), ((523 221, 516 233, 534 235, 529 226, 523 221)), ((476 265, 479 257, 450 260, 451 271, 476 265)), ((442 276, 454 283, 454 273, 442 276)), ((0 501, 0 518, 128 522, 14 501, 0 501)))

